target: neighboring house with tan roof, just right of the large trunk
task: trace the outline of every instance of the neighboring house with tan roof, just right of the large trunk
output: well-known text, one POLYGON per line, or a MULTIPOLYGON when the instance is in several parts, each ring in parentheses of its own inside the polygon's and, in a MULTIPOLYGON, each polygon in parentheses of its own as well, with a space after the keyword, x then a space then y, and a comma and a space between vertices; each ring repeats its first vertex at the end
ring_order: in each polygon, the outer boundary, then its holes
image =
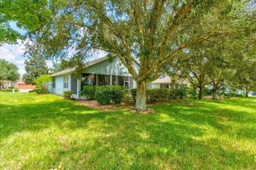
POLYGON ((188 87, 189 83, 185 80, 178 80, 178 83, 173 83, 169 75, 165 75, 151 82, 149 88, 152 89, 179 89, 188 87))

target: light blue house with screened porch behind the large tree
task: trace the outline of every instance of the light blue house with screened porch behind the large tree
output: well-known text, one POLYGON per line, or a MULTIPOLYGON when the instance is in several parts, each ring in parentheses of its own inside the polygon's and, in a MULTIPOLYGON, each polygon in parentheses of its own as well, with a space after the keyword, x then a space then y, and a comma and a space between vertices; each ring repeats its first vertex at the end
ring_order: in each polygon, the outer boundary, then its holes
MULTIPOLYGON (((139 62, 133 58, 135 70, 139 70, 139 62)), ((54 73, 52 77, 52 86, 49 91, 52 94, 63 96, 64 91, 74 91, 74 98, 83 98, 79 96, 79 91, 83 86, 102 86, 113 84, 115 86, 127 86, 128 89, 136 87, 136 82, 127 68, 115 57, 109 61, 108 57, 98 58, 86 63, 86 68, 81 77, 75 80, 72 74, 75 69, 67 69, 54 73)))

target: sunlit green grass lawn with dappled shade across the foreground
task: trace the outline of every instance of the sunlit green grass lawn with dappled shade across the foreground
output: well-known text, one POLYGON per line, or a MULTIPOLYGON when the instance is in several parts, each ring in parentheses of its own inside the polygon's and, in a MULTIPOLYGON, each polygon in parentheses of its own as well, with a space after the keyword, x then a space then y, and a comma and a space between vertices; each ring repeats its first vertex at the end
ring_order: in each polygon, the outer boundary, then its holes
POLYGON ((154 114, 0 92, 0 169, 256 169, 256 98, 187 100, 154 114))

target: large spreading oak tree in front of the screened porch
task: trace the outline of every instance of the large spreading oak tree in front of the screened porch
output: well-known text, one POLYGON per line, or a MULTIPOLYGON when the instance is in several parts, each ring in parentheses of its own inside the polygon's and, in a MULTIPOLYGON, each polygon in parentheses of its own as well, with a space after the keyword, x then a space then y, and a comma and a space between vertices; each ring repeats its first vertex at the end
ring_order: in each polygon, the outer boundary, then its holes
POLYGON ((148 84, 182 60, 180 53, 206 40, 256 31, 254 2, 246 0, 48 2, 51 18, 30 32, 30 40, 47 58, 84 60, 93 50, 118 56, 137 82, 138 110, 146 109, 148 84))

